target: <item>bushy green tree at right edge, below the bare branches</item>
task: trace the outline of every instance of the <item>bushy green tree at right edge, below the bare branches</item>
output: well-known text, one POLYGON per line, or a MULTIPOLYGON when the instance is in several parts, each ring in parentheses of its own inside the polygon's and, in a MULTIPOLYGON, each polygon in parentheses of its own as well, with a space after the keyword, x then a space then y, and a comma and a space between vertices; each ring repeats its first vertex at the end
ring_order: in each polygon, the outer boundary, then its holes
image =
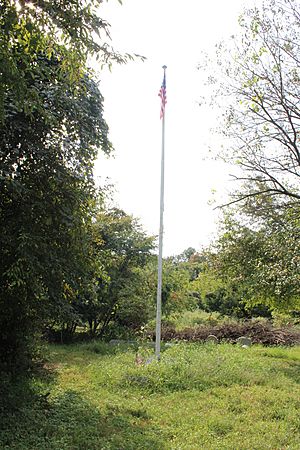
POLYGON ((291 311, 300 302, 299 214, 277 212, 259 228, 233 217, 224 223, 214 267, 229 286, 237 286, 244 303, 291 311))

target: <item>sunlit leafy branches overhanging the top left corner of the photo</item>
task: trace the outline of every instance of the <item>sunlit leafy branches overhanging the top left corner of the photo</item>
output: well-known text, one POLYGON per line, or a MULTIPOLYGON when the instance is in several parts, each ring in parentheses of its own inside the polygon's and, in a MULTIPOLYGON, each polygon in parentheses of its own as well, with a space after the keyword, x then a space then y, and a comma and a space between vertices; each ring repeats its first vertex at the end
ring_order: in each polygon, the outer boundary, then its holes
POLYGON ((7 116, 7 92, 17 110, 48 116, 49 107, 33 83, 37 74, 44 75, 40 55, 59 60, 57 79, 71 91, 76 91, 89 56, 108 65, 132 59, 110 46, 110 26, 98 15, 101 4, 101 0, 0 0, 0 121, 7 116))

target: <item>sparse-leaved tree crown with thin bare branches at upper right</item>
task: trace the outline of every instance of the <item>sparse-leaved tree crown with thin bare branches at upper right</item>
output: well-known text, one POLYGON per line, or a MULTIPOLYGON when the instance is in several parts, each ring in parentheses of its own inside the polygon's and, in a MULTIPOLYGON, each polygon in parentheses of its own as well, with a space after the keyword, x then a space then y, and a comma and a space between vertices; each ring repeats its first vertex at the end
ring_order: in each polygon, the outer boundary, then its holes
POLYGON ((299 24, 296 1, 267 0, 241 16, 231 47, 219 47, 221 81, 213 81, 230 98, 223 132, 231 145, 223 157, 243 183, 232 202, 263 195, 276 206, 299 204, 299 24))

